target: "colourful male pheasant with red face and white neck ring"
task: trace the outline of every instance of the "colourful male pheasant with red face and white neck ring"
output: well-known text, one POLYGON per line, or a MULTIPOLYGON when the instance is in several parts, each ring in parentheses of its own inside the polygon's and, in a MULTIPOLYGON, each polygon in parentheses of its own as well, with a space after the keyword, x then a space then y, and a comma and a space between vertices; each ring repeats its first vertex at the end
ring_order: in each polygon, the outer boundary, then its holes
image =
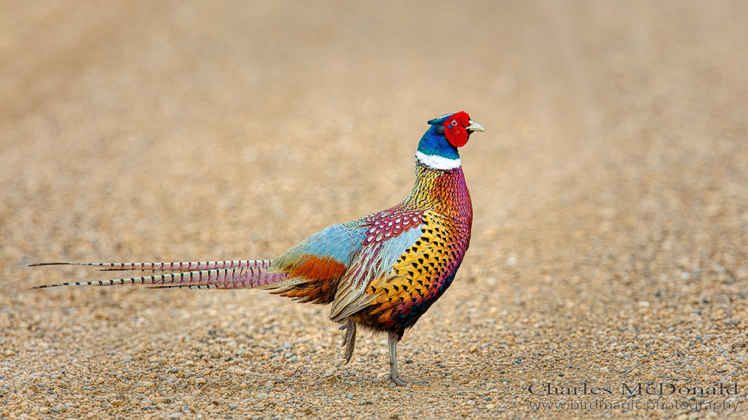
MULTIPOLYGON (((389 380, 405 330, 450 287, 470 244, 473 206, 457 149, 484 132, 465 111, 430 120, 416 152, 416 182, 397 206, 329 226, 282 256, 267 260, 163 263, 43 263, 88 265, 152 276, 40 285, 149 285, 154 288, 264 288, 300 302, 332 303, 330 319, 346 330, 346 363, 356 327, 387 332, 389 380)), ((341 346, 342 347, 342 346, 341 346)))

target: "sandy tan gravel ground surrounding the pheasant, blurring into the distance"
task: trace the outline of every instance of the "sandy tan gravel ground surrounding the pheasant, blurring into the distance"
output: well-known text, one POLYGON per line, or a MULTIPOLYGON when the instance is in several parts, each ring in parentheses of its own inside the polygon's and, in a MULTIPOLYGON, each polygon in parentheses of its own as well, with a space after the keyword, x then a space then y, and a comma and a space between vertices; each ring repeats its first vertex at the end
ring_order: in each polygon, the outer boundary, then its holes
POLYGON ((748 416, 744 1, 208 3, 0 2, 0 418, 748 416), (461 109, 473 240, 399 346, 426 385, 266 291, 28 290, 274 258, 398 203, 461 109))

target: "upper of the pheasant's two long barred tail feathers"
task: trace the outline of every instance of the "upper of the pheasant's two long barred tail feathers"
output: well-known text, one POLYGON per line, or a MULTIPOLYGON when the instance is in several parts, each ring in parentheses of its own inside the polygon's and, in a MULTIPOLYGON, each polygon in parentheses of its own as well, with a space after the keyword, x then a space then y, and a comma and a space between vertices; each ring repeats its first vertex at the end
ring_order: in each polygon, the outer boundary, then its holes
POLYGON ((270 259, 250 259, 239 261, 206 261, 206 262, 41 262, 29 267, 41 265, 85 265, 99 268, 99 271, 150 271, 151 273, 186 273, 200 270, 231 270, 242 268, 263 269, 270 259))

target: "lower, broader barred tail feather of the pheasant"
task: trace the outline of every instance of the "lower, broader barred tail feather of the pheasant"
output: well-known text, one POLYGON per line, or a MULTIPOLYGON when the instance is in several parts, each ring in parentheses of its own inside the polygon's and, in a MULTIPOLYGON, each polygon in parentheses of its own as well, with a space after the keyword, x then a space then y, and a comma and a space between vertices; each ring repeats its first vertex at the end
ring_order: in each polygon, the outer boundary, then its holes
MULTIPOLYGON (((277 288, 286 284, 286 273, 268 273, 272 260, 243 261, 241 268, 211 269, 199 271, 177 271, 155 276, 129 277, 126 279, 96 280, 91 282, 64 282, 53 285, 38 285, 33 288, 48 288, 61 285, 145 285, 152 288, 277 288)), ((168 267, 170 263, 165 263, 168 267)), ((175 263, 176 267, 179 263, 175 263)), ((211 264, 211 263, 183 263, 211 264)), ((86 264, 82 264, 86 265, 86 264)), ((160 263, 159 263, 160 265, 160 263)), ((101 265, 94 265, 101 266, 101 265)), ((184 267, 184 265, 183 265, 184 267)), ((129 269, 129 268, 123 268, 129 269)), ((156 268, 160 269, 160 268, 156 268)))

